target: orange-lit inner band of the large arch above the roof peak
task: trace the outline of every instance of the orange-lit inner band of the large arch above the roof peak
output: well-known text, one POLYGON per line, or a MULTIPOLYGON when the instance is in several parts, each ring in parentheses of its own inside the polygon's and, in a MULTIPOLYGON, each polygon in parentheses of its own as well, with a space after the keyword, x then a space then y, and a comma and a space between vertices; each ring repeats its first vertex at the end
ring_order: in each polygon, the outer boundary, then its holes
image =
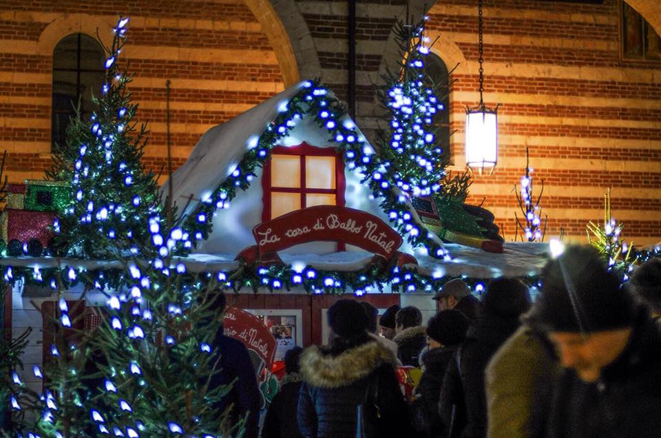
MULTIPOLYGON (((286 23, 287 26, 284 25, 269 0, 244 0, 244 2, 251 12, 253 12, 255 19, 262 26, 262 31, 266 34, 273 47, 275 58, 282 72, 284 86, 290 87, 300 82, 299 59, 295 56, 290 36, 287 33, 291 23, 286 23)), ((273 3, 282 2, 274 1, 273 3)), ((300 17, 300 19, 302 20, 303 18, 300 17)))

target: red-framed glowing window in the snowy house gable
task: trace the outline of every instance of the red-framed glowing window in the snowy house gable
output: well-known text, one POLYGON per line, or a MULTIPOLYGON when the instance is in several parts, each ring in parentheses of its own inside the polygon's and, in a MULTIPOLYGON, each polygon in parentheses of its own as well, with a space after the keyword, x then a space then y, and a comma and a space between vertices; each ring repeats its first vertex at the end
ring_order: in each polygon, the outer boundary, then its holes
POLYGON ((344 205, 344 163, 335 149, 277 146, 264 167, 262 220, 315 205, 344 205))

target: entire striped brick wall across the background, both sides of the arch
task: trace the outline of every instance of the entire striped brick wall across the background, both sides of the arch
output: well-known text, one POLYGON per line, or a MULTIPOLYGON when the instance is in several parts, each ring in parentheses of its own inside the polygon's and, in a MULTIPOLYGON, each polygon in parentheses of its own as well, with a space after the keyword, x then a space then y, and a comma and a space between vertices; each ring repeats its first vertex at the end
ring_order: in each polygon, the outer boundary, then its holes
MULTIPOLYGON (((155 171, 165 156, 166 79, 172 81, 176 165, 208 127, 284 88, 282 64, 246 6, 254 11, 255 1, 152 3, 0 0, 0 147, 10 153, 10 180, 39 178, 48 166, 52 60, 39 48, 54 21, 81 13, 107 22, 119 12, 132 17, 125 55, 136 73, 131 90, 140 103, 138 118, 150 122, 146 156, 155 171)), ((357 2, 357 121, 368 134, 381 113, 373 83, 386 62, 397 62, 390 28, 407 3, 413 12, 430 2, 357 2)), ((300 14, 291 21, 298 28, 280 15, 287 32, 303 35, 291 41, 300 71, 319 63, 318 74, 346 98, 346 1, 271 5, 300 14)), ((529 147, 533 176, 545 180, 549 235, 563 228, 569 238, 584 240, 585 223, 600 220, 602 196, 612 187, 613 213, 625 222, 627 238, 661 240, 661 64, 620 60, 618 9, 618 0, 485 0, 485 100, 501 104, 501 150, 494 174, 475 176, 471 200, 485 198, 508 239, 514 238, 517 207, 512 187, 529 147)), ((450 123, 457 129, 452 156, 461 169, 463 111, 479 101, 476 2, 438 1, 429 16, 430 36, 439 36, 434 51, 448 67, 460 62, 450 123)))

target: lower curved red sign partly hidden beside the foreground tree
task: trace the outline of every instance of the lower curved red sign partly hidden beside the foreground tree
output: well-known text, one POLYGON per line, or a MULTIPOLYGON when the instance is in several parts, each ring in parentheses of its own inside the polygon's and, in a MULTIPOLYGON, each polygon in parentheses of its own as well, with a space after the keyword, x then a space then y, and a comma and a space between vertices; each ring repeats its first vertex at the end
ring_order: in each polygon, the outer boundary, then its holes
POLYGON ((230 307, 225 311, 222 327, 224 335, 242 342, 264 361, 267 368, 271 368, 277 341, 269 328, 266 328, 255 315, 230 307))

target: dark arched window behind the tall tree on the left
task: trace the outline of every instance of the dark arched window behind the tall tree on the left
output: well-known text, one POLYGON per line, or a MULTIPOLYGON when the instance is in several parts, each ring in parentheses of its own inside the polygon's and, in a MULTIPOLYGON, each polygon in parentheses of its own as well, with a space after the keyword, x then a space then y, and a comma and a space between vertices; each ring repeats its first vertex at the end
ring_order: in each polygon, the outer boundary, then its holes
POLYGON ((53 118, 52 145, 63 145, 67 125, 76 116, 81 103, 84 120, 96 110, 92 93, 101 93, 104 53, 101 44, 85 34, 71 34, 60 40, 53 50, 53 118))

